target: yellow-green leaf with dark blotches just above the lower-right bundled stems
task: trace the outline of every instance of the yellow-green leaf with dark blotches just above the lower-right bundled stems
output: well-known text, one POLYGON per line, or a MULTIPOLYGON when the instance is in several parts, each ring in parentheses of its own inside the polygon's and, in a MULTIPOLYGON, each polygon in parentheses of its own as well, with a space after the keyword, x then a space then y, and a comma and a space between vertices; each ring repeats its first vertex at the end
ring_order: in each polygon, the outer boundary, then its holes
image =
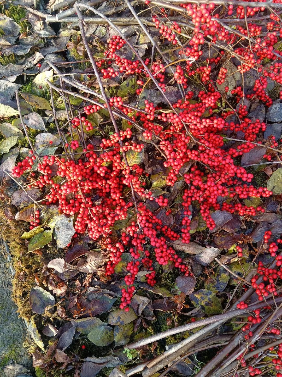
POLYGON ((220 314, 223 312, 220 299, 214 292, 207 289, 200 289, 189 296, 193 305, 206 314, 220 314))

